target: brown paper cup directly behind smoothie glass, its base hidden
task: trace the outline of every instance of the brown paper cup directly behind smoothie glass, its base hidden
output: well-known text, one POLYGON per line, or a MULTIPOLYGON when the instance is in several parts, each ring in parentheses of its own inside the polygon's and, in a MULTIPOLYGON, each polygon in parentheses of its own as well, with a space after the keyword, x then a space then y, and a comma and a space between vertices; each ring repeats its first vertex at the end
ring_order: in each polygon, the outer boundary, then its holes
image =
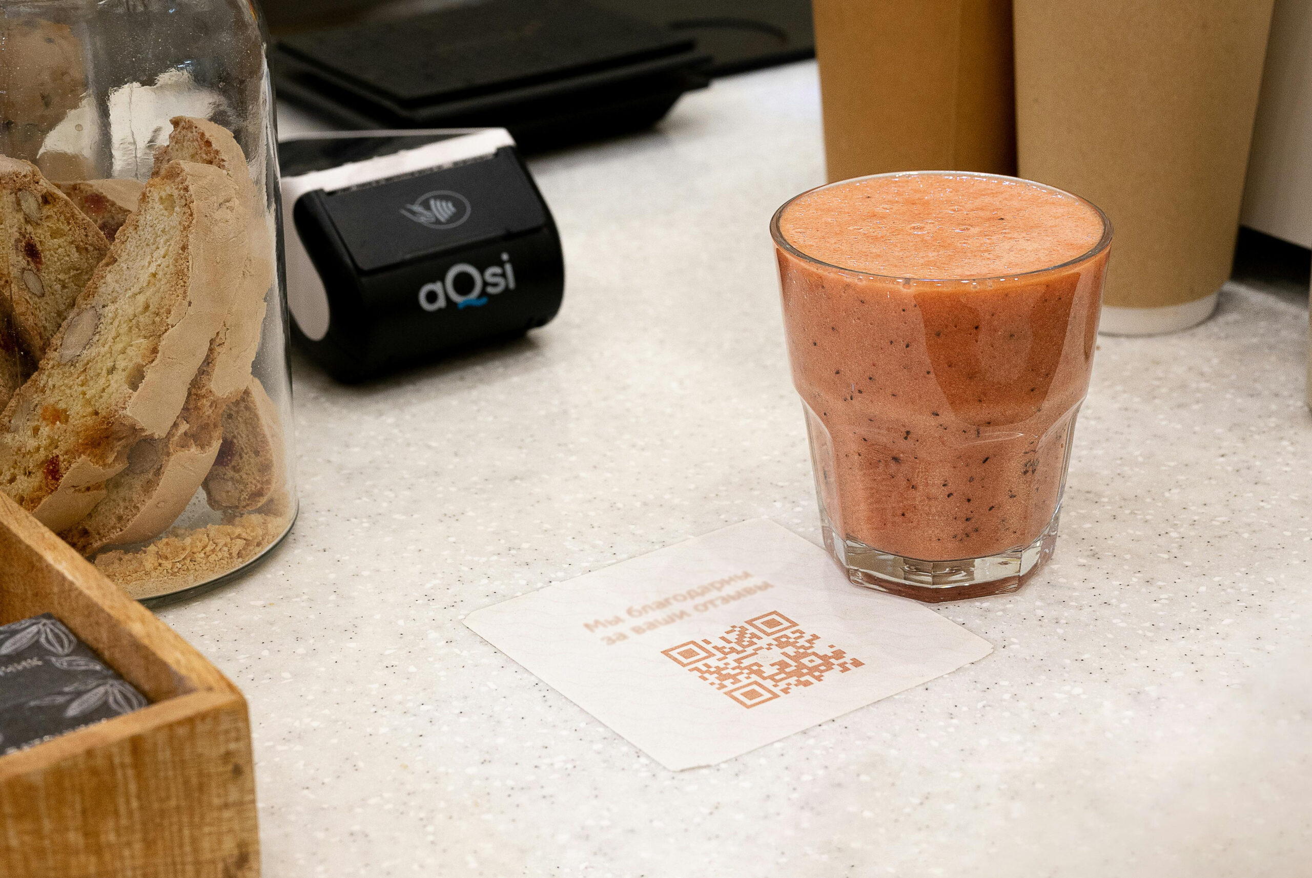
POLYGON ((1012 0, 813 0, 829 180, 1015 173, 1012 0))

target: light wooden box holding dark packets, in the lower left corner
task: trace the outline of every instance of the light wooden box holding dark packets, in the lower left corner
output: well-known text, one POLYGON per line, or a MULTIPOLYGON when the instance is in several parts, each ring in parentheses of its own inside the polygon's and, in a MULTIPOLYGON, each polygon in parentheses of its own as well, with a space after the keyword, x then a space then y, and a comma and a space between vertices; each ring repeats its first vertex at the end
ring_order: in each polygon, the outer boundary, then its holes
POLYGON ((0 756, 0 875, 256 878, 241 693, 0 494, 0 624, 45 612, 151 704, 0 756))

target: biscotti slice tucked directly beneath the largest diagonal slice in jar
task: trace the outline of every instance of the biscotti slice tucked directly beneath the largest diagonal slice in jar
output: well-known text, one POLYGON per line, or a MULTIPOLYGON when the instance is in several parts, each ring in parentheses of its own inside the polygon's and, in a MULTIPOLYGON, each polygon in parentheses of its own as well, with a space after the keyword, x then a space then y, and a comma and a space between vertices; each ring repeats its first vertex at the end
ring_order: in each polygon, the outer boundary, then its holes
POLYGON ((85 556, 106 545, 127 545, 159 536, 210 472, 223 439, 223 402, 210 392, 218 337, 192 379, 186 404, 161 439, 140 439, 127 452, 127 467, 105 482, 105 498, 81 522, 59 536, 85 556))

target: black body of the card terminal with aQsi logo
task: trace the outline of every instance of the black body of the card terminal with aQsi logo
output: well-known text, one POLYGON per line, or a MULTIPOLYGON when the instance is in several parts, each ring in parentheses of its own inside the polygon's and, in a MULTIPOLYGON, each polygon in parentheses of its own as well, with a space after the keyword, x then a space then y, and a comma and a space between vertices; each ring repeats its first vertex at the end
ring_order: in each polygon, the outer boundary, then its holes
POLYGON ((512 147, 449 168, 285 204, 323 279, 321 339, 298 346, 342 381, 520 335, 560 309, 560 237, 512 147))

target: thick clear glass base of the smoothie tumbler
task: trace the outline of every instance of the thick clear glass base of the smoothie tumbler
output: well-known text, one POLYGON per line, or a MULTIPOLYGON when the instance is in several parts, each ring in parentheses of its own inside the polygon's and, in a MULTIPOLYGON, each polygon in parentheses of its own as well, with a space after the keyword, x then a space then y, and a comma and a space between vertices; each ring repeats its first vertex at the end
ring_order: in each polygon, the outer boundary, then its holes
POLYGON ((858 586, 926 603, 988 598, 1017 591, 1052 557, 1061 508, 1029 545, 984 558, 922 561, 880 552, 853 539, 840 539, 821 508, 824 546, 858 586))

